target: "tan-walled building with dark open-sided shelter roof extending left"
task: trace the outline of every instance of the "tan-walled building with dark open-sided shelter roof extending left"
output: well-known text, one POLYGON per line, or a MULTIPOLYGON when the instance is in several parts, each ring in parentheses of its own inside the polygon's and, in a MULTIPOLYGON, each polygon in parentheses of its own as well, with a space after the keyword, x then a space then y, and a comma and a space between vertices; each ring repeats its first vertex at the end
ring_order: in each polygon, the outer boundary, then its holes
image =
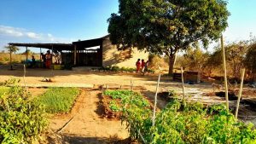
POLYGON ((135 67, 137 59, 148 60, 148 52, 137 48, 118 50, 108 36, 73 43, 9 43, 9 45, 49 49, 61 54, 61 65, 135 67))

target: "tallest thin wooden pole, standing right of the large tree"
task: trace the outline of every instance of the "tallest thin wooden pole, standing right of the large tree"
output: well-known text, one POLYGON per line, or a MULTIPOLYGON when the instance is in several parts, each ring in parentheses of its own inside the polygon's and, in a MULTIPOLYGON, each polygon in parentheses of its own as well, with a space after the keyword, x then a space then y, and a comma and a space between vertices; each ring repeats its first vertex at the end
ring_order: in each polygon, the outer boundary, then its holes
POLYGON ((221 49, 222 49, 222 56, 223 56, 226 108, 227 108, 227 112, 229 112, 229 108, 230 108, 229 107, 229 90, 228 90, 227 67, 226 67, 226 58, 225 58, 225 49, 224 49, 223 35, 221 35, 220 41, 221 41, 221 49))

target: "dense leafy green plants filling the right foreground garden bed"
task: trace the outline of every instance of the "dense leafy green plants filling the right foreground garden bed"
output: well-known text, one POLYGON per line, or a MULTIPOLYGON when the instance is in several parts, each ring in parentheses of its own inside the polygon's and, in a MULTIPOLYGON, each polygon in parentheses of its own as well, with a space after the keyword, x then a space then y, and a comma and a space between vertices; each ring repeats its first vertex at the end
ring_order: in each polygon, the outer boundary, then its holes
POLYGON ((130 90, 107 91, 120 99, 119 111, 131 138, 143 143, 256 143, 253 124, 245 124, 224 105, 204 107, 199 102, 171 101, 156 113, 143 105, 143 96, 130 90))

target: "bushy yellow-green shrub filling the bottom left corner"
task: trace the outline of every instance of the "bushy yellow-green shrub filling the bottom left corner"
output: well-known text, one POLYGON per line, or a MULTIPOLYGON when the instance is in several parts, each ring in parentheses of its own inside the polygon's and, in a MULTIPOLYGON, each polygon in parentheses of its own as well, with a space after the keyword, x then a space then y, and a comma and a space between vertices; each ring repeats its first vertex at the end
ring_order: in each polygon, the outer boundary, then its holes
POLYGON ((44 108, 29 101, 25 89, 17 86, 18 80, 11 81, 13 86, 0 95, 0 142, 32 143, 46 130, 44 108))

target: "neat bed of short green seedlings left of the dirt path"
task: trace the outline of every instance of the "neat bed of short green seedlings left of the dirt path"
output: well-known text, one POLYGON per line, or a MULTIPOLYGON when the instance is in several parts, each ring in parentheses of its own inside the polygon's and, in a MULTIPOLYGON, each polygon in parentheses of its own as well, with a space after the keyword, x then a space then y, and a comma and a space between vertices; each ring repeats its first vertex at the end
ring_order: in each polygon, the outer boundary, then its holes
POLYGON ((78 95, 78 88, 50 88, 36 101, 45 106, 46 112, 69 112, 78 95))

